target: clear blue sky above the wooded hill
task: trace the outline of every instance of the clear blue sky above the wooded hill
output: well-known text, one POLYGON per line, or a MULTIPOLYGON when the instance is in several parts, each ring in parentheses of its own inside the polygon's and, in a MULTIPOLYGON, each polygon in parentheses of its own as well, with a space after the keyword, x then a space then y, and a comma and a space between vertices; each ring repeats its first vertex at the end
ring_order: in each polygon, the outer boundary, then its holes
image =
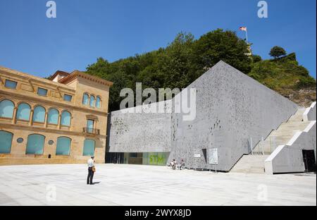
POLYGON ((268 18, 257 0, 56 0, 57 18, 46 18, 46 0, 0 0, 0 66, 45 77, 57 70, 85 71, 97 57, 108 61, 166 47, 180 32, 199 38, 223 28, 244 37, 268 59, 279 45, 296 52, 316 78, 316 0, 268 0, 268 18))

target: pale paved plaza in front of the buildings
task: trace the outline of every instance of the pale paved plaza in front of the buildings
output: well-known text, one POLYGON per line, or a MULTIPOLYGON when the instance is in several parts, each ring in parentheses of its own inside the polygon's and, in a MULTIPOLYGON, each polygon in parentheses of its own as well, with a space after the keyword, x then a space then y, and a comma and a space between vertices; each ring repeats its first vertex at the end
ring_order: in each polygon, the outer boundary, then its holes
POLYGON ((316 174, 173 171, 164 166, 0 166, 0 205, 316 205, 316 174))

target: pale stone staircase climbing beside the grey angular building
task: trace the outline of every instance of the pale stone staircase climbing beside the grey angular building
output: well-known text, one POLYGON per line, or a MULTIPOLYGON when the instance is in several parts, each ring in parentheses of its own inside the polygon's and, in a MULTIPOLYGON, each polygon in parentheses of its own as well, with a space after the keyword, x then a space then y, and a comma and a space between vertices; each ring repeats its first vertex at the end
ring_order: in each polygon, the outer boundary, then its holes
POLYGON ((303 121, 306 109, 298 109, 290 119, 282 123, 277 130, 273 130, 265 140, 260 141, 253 149, 253 154, 244 155, 231 172, 264 173, 264 161, 279 145, 286 145, 297 131, 302 131, 310 121, 303 121))

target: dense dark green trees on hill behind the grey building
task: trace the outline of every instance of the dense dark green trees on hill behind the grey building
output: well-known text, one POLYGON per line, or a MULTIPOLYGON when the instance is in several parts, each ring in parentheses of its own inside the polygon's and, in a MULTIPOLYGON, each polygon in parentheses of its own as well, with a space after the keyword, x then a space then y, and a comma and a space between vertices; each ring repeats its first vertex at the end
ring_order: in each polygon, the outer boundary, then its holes
MULTIPOLYGON (((109 63, 103 58, 97 59, 87 67, 87 73, 110 80, 113 86, 110 89, 110 111, 119 109, 120 91, 129 87, 135 91, 135 82, 142 82, 142 87, 184 88, 199 78, 208 68, 223 60, 243 73, 259 80, 273 89, 280 88, 281 82, 285 85, 289 81, 281 80, 288 72, 302 75, 297 77, 298 85, 306 86, 311 80, 306 80, 308 72, 298 66, 296 55, 284 56, 279 62, 261 61, 260 56, 252 56, 248 45, 229 30, 213 30, 194 39, 190 33, 180 32, 173 42, 165 48, 150 51, 145 54, 135 54, 125 59, 109 63), (279 72, 280 66, 285 71, 279 72)), ((282 55, 280 55, 282 56, 282 55)), ((292 80, 293 82, 294 80, 292 80)), ((283 84, 283 86, 284 86, 283 84)), ((145 99, 145 98, 144 98, 145 99)))

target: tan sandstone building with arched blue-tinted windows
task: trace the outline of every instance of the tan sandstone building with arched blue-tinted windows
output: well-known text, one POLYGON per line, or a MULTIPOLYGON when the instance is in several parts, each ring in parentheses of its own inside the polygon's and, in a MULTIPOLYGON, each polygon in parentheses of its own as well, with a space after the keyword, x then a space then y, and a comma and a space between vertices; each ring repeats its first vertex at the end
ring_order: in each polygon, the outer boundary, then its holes
POLYGON ((50 80, 0 66, 0 164, 104 162, 112 82, 73 71, 50 80))

